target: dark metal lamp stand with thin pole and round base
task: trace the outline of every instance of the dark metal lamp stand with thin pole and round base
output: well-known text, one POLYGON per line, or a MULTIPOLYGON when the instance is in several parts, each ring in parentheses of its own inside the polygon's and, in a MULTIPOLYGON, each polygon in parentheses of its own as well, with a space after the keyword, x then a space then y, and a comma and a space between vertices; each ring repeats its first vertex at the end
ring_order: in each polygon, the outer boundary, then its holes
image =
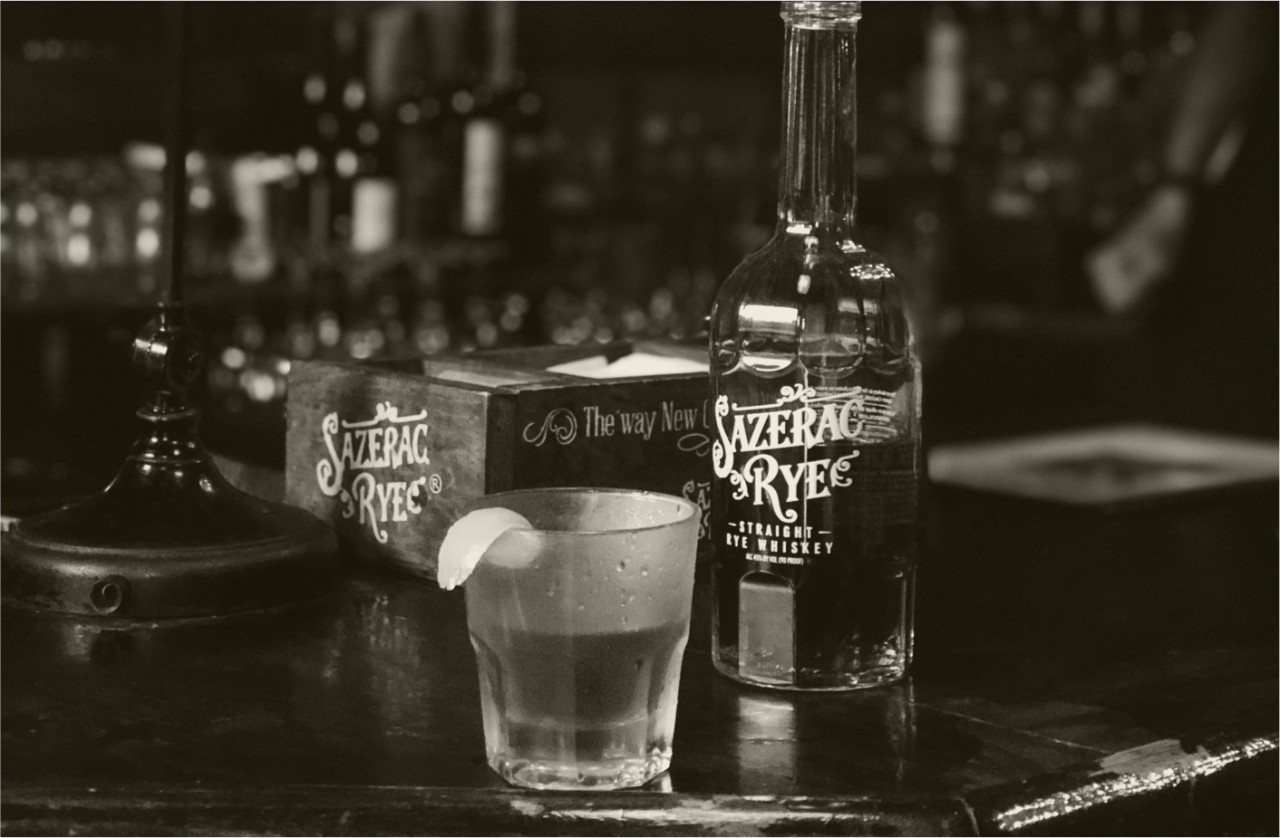
POLYGON ((311 514, 247 495, 200 440, 189 390, 205 367, 183 307, 188 18, 169 15, 172 107, 165 147, 164 278, 157 312, 133 343, 147 390, 140 432, 95 496, 17 522, 0 541, 9 603, 109 619, 212 617, 315 596, 334 580, 337 541, 311 514))

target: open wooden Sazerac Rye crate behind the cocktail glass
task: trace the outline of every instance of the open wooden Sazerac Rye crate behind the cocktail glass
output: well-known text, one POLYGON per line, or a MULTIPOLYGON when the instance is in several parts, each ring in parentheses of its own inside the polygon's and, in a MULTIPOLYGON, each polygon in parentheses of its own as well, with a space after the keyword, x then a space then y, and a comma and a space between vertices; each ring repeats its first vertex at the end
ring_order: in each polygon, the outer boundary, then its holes
MULTIPOLYGON (((705 375, 593 380, 548 366, 607 347, 547 347, 289 371, 285 499, 328 521, 343 554, 435 577, 444 531, 507 489, 662 491, 710 508, 705 375)), ((686 354, 666 344, 645 351, 686 354)))

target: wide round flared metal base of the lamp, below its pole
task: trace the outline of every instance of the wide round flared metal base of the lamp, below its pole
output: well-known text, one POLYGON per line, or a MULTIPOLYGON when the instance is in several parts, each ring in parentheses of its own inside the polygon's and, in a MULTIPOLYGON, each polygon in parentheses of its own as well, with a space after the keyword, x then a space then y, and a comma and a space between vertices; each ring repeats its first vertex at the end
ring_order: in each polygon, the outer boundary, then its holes
POLYGON ((6 600, 180 619, 284 605, 333 585, 338 549, 326 525, 227 482, 196 438, 195 411, 138 416, 146 432, 106 490, 4 535, 6 600))

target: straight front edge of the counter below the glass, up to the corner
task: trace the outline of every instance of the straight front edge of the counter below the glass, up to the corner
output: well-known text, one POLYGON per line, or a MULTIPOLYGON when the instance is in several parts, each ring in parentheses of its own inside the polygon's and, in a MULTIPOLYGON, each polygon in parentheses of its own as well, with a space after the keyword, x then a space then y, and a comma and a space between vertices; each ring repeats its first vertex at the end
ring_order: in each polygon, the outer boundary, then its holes
POLYGON ((977 834, 956 796, 733 796, 515 788, 5 786, 4 834, 977 834))

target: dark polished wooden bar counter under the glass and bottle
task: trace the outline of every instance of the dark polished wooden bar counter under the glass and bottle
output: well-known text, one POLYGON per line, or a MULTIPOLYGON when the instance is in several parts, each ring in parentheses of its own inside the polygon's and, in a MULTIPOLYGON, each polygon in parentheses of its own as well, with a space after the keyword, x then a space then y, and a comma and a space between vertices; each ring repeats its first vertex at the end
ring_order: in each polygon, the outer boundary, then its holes
POLYGON ((160 628, 5 605, 0 829, 1275 834, 1275 509, 936 490, 913 681, 740 687, 700 606, 672 770, 634 792, 489 771, 463 597, 433 585, 351 568, 294 609, 160 628))

